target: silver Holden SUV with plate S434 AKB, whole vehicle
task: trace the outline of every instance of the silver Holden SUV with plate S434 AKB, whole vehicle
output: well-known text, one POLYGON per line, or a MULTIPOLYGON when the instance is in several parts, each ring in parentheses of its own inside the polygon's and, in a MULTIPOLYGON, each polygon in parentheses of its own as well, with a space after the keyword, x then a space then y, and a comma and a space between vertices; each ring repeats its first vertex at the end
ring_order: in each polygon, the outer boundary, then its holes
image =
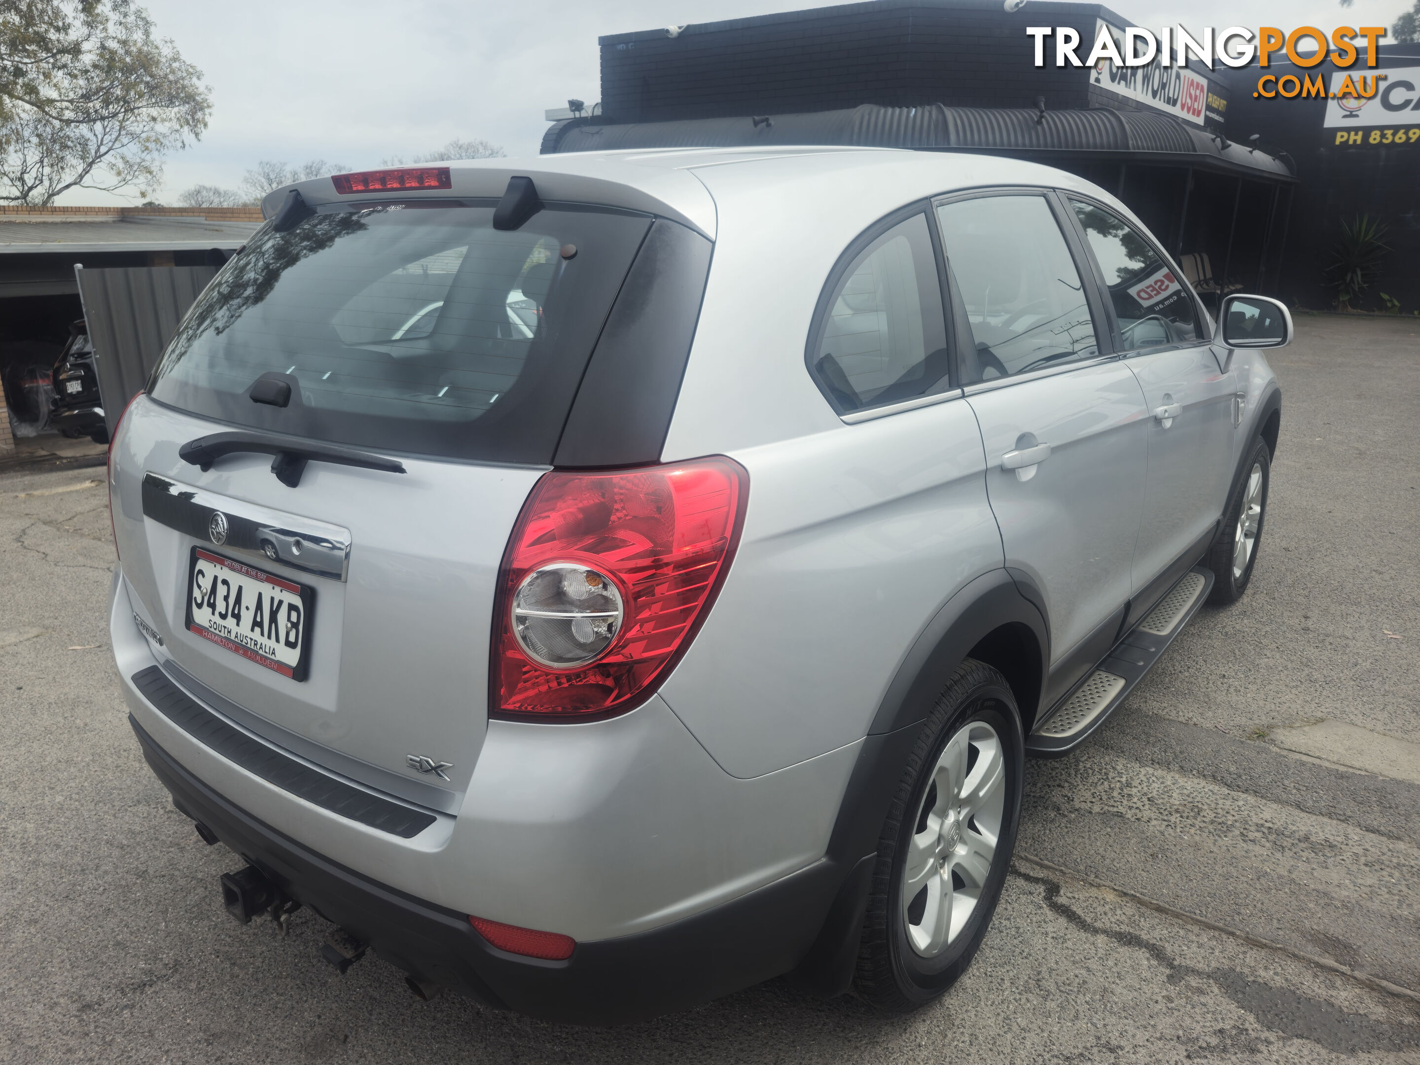
POLYGON ((112 640, 240 920, 611 1024, 967 967, 1027 754, 1257 562, 1264 297, 1010 159, 659 151, 267 197, 109 459, 112 640))

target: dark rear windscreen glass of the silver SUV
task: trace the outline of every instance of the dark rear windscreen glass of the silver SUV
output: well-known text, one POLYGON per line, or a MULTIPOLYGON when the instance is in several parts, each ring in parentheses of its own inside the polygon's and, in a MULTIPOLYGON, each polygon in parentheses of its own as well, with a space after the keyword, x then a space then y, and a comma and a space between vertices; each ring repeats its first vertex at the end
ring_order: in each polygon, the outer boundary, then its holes
POLYGON ((550 463, 646 216, 339 204, 263 229, 193 304, 151 395, 334 443, 550 463), (285 408, 256 403, 275 373, 285 408))

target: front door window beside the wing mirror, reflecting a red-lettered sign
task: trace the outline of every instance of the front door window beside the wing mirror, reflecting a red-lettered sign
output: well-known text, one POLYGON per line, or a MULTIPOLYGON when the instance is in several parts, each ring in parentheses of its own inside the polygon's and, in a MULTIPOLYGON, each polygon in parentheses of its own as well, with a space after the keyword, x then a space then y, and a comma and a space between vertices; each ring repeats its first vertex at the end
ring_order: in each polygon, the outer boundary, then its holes
POLYGON ((1183 281, 1133 226, 1093 203, 1071 200, 1109 285, 1125 349, 1198 338, 1198 320, 1183 281))

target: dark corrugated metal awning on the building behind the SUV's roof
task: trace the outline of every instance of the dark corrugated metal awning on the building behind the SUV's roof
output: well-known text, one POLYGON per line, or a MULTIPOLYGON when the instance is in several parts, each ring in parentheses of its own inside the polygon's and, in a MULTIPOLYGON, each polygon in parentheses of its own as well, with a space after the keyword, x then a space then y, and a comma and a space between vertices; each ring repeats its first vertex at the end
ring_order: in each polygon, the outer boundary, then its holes
POLYGON ((988 152, 1049 162, 1054 158, 1118 159, 1198 166, 1272 182, 1295 182, 1278 159, 1194 129, 1172 115, 1093 108, 951 108, 943 104, 889 108, 863 104, 845 111, 744 115, 676 122, 554 124, 542 153, 622 148, 754 148, 852 145, 917 151, 988 152))

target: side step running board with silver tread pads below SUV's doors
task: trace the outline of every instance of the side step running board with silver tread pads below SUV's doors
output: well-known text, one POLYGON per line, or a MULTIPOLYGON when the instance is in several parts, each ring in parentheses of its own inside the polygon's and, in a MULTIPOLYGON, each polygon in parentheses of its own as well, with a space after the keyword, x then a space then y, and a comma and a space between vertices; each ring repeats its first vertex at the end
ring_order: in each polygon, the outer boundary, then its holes
POLYGON ((1059 758, 1079 747, 1145 679, 1211 591, 1211 569, 1200 565, 1186 572, 1095 670, 1041 719, 1025 738, 1025 753, 1034 758, 1059 758))

